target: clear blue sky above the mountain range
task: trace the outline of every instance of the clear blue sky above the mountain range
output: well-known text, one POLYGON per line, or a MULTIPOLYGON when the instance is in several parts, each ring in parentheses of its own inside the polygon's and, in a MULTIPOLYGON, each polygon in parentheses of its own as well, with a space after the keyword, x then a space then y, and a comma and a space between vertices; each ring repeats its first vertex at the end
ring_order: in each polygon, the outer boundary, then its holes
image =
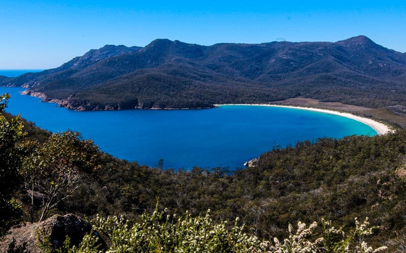
POLYGON ((339 41, 365 35, 406 51, 406 1, 0 1, 0 69, 49 69, 106 44, 157 38, 339 41))

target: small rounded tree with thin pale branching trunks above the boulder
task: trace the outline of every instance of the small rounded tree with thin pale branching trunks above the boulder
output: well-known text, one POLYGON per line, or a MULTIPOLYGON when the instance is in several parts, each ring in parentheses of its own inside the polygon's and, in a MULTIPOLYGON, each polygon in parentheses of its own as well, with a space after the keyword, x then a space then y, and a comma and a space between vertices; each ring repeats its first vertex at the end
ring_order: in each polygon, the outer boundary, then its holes
POLYGON ((80 186, 81 172, 95 168, 98 148, 77 132, 53 134, 36 145, 23 162, 25 187, 31 198, 31 219, 35 194, 41 196, 39 222, 80 186))

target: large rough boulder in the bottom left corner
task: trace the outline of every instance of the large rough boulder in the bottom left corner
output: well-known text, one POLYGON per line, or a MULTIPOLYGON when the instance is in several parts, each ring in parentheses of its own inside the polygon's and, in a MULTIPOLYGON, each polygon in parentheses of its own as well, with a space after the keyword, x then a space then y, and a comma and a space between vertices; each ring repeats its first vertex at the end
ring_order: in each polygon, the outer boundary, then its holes
MULTIPOLYGON (((40 223, 27 223, 10 229, 0 242, 0 252, 8 252, 13 244, 14 248, 25 245, 28 252, 43 252, 39 246, 39 237, 44 240, 46 236, 49 236, 49 242, 52 244, 51 252, 55 252, 55 248, 63 245, 66 236, 69 236, 73 245, 78 245, 83 237, 91 232, 91 228, 88 222, 74 214, 54 215, 40 223)), ((101 248, 106 248, 104 240, 96 232, 94 234, 98 237, 97 243, 101 248)))

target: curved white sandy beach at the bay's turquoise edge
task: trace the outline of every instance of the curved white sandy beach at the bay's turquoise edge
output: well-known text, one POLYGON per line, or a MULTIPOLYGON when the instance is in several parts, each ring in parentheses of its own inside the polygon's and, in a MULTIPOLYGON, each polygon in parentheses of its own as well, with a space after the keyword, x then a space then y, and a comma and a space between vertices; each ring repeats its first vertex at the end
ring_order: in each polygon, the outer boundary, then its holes
MULTIPOLYGON (((339 115, 346 118, 351 118, 362 122, 369 127, 373 128, 379 135, 384 135, 388 133, 393 133, 393 130, 390 129, 387 125, 378 122, 376 120, 370 118, 364 118, 360 116, 355 116, 348 112, 339 112, 327 109, 319 109, 319 108, 311 108, 311 107, 300 107, 300 106, 282 106, 282 105, 266 105, 266 104, 225 104, 225 105, 244 105, 244 106, 270 106, 270 107, 284 107, 284 108, 294 108, 294 109, 301 109, 301 110, 308 110, 308 111, 315 111, 315 112, 323 112, 323 113, 330 113, 334 115, 339 115)), ((222 105, 215 105, 215 106, 222 106, 222 105)))

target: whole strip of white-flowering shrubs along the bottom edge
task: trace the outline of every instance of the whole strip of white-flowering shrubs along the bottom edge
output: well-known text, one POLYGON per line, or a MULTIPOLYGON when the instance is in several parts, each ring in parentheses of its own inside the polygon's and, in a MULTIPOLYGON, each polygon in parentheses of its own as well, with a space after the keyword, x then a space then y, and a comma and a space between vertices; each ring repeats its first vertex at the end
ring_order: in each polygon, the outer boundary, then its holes
MULTIPOLYGON (((144 213, 141 222, 132 225, 121 217, 96 216, 92 220, 93 229, 108 242, 106 252, 381 252, 386 249, 374 250, 365 242, 377 228, 368 227, 367 218, 362 224, 356 219, 356 227, 347 233, 324 220, 322 228, 316 222, 309 227, 298 222, 296 231, 289 225, 288 238, 283 241, 274 238, 272 243, 244 233, 244 225, 238 225, 238 218, 232 229, 227 229, 226 221, 214 222, 210 210, 205 216, 192 217, 186 213, 180 218, 165 216, 165 211, 144 213), (316 233, 317 229, 322 232, 316 233)), ((94 235, 87 235, 79 246, 60 252, 103 252, 96 249, 96 241, 94 235)))

